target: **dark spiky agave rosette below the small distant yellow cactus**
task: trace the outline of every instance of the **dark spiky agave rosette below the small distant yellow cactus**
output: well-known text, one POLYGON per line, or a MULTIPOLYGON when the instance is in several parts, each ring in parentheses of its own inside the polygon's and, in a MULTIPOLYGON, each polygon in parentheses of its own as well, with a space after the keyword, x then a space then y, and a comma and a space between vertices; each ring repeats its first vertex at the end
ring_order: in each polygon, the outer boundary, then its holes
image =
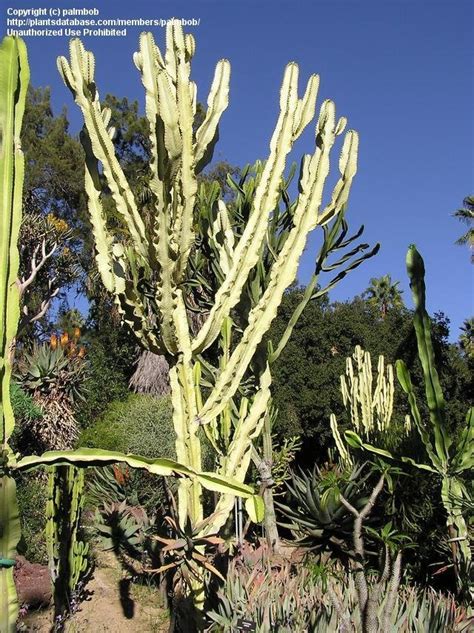
POLYGON ((340 495, 356 508, 367 502, 364 484, 370 473, 363 474, 364 466, 355 465, 350 471, 335 465, 327 470, 315 466, 311 472, 294 472, 286 482, 289 502, 276 502, 289 519, 280 525, 289 528, 301 545, 347 552, 353 519, 340 502, 340 495))

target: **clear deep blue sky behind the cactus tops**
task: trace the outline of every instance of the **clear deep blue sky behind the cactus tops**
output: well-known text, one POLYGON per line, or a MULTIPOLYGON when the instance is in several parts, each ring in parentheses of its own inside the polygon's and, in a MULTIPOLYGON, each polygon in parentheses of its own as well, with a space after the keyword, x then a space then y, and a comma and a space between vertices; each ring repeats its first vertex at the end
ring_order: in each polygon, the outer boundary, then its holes
MULTIPOLYGON (((8 6, 9 0, 2 0, 8 6)), ((13 4, 13 3, 12 3, 13 4)), ((465 226, 452 217, 474 192, 473 9, 470 0, 196 0, 158 2, 83 0, 15 2, 15 7, 97 7, 100 17, 200 18, 188 30, 196 37, 193 74, 205 101, 218 59, 232 64, 231 104, 224 114, 215 158, 244 165, 265 158, 277 114, 285 64, 300 65, 300 83, 321 76, 318 104, 336 102, 339 114, 361 137, 359 172, 348 211, 353 229, 365 224, 365 240, 380 253, 331 293, 344 300, 360 294, 371 277, 400 280, 411 305, 405 273, 407 246, 414 242, 427 268, 428 307, 451 319, 456 339, 474 313, 473 270, 467 247, 454 242, 465 226)), ((141 100, 131 55, 139 28, 126 38, 88 37, 96 55, 102 95, 141 100)), ((164 32, 152 29, 158 44, 164 32)), ((73 131, 79 116, 55 65, 67 38, 26 38, 35 86, 52 87, 56 111, 66 105, 73 131)), ((312 131, 294 158, 312 149, 312 131)), ((336 155, 334 155, 336 159, 336 155)), ((299 280, 308 279, 317 246, 305 253, 299 280)))

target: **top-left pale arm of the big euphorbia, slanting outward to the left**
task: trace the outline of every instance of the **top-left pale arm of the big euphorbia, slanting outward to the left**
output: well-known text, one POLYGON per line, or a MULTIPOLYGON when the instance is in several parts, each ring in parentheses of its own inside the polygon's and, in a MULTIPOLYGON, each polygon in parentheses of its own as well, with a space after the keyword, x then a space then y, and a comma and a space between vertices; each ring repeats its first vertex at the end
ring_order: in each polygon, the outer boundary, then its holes
POLYGON ((71 63, 65 57, 58 58, 58 69, 74 100, 80 107, 89 133, 95 157, 102 163, 107 184, 117 211, 124 218, 137 253, 144 260, 147 255, 145 225, 132 191, 120 166, 107 127, 110 111, 101 110, 99 95, 94 83, 94 56, 86 51, 78 39, 70 43, 71 63))

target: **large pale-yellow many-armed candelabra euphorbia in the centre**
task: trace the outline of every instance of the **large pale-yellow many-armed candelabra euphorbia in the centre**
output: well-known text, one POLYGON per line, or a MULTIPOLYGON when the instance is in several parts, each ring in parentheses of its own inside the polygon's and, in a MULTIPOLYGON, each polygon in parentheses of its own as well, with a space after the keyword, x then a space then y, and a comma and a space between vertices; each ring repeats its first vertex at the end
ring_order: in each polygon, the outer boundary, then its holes
MULTIPOLYGON (((298 96, 298 66, 285 70, 280 92, 280 112, 270 141, 270 151, 252 195, 251 209, 241 235, 232 230, 224 200, 218 206, 218 225, 210 231, 219 242, 219 266, 225 271, 204 324, 193 334, 186 308, 186 284, 192 272, 188 263, 196 243, 195 214, 198 174, 211 160, 218 137, 218 123, 228 105, 230 65, 221 60, 207 100, 207 112, 195 129, 197 88, 190 78, 195 52, 192 35, 185 35, 178 21, 167 27, 162 53, 150 33, 140 37, 134 61, 145 89, 149 122, 152 204, 140 208, 115 155, 111 111, 100 104, 94 82, 95 60, 82 43, 70 45, 70 60, 60 57, 58 67, 84 117, 86 151, 85 186, 96 244, 97 266, 106 288, 115 295, 123 320, 142 345, 164 354, 170 365, 173 420, 178 460, 193 470, 201 467, 200 427, 218 451, 217 473, 243 482, 252 441, 261 431, 270 399, 270 358, 258 371, 252 393, 242 382, 262 338, 276 316, 283 293, 294 281, 308 234, 325 227, 347 203, 356 173, 358 136, 345 134, 339 160, 340 179, 330 202, 322 204, 329 174, 329 155, 346 119, 336 118, 334 103, 325 101, 317 117, 315 150, 301 162, 299 194, 292 208, 291 228, 268 272, 265 287, 246 315, 245 326, 230 344, 233 311, 243 297, 249 276, 259 262, 269 222, 281 195, 286 162, 295 141, 313 120, 319 78, 311 76, 303 97, 298 96), (113 198, 127 229, 119 242, 110 230, 102 204, 105 192, 113 198), (151 207, 151 211, 150 211, 151 207), (218 366, 207 371, 206 354, 219 348, 218 366), (202 374, 213 376, 202 389, 202 374), (229 427, 229 407, 233 423, 229 427), (227 421, 227 424, 226 424, 227 421), (222 435, 225 434, 225 450, 222 435)), ((212 239, 212 236, 211 236, 212 239)), ((310 289, 310 295, 314 287, 310 289)), ((309 295, 309 296, 310 296, 309 295)), ((308 299, 309 300, 309 299, 308 299)), ((291 327, 290 327, 291 332, 291 327)), ((289 336, 289 333, 288 333, 289 336)), ((284 342, 286 342, 287 337, 284 342)), ((284 344, 283 342, 283 344, 284 344)), ((271 355, 279 353, 271 352, 271 355)), ((234 495, 222 494, 204 533, 218 531, 233 507, 234 495)), ((189 520, 203 521, 201 485, 182 481, 178 491, 181 527, 189 520)))

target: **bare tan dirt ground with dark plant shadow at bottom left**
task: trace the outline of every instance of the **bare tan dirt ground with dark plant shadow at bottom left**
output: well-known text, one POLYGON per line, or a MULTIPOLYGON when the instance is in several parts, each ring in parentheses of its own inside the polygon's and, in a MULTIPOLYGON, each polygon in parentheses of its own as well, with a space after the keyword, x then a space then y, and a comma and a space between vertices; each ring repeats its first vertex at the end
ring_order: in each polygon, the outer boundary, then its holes
MULTIPOLYGON (((95 569, 87 591, 89 598, 68 621, 67 633, 168 631, 168 614, 157 606, 156 588, 133 585, 119 570, 99 567, 95 569)), ((51 619, 51 609, 31 613, 24 619, 23 631, 48 633, 51 619)))

